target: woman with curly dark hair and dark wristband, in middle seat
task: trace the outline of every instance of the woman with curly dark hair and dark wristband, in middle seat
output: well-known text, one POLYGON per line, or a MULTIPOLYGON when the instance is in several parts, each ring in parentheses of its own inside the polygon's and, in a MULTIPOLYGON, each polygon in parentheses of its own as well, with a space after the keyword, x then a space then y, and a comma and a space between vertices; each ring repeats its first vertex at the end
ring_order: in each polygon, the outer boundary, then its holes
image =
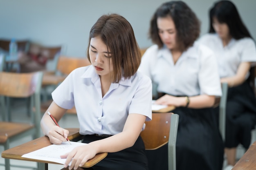
MULTIPOLYGON (((221 86, 213 51, 195 40, 200 21, 182 1, 163 3, 150 21, 155 45, 144 53, 139 71, 157 84, 156 104, 173 105, 179 115, 177 170, 221 170, 223 141, 213 112, 221 86)), ((167 146, 147 151, 150 170, 168 169, 167 146)))

